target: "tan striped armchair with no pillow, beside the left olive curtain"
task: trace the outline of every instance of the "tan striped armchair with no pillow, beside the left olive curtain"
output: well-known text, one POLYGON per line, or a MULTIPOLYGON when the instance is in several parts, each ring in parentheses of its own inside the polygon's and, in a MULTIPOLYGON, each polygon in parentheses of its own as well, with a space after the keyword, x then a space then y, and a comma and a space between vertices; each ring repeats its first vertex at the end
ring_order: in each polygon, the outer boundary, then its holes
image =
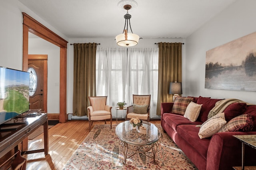
POLYGON ((88 97, 90 100, 90 106, 87 107, 89 129, 91 131, 91 125, 93 121, 110 120, 110 128, 112 129, 112 113, 111 106, 106 105, 107 96, 88 97))

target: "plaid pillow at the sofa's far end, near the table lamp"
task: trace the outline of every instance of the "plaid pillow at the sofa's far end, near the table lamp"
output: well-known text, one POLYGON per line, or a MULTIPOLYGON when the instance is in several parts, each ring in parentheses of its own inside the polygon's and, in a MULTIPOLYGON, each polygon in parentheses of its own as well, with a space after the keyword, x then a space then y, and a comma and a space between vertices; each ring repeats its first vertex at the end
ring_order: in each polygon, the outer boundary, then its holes
POLYGON ((172 107, 172 113, 184 115, 188 104, 193 100, 193 97, 177 97, 172 107))

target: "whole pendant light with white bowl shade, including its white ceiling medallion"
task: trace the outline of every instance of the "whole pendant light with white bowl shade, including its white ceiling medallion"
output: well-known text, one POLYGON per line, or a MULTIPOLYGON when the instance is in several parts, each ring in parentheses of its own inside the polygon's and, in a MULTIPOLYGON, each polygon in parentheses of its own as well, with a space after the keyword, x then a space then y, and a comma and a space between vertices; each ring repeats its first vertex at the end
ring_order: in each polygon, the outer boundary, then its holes
POLYGON ((136 7, 138 4, 134 0, 121 0, 118 3, 118 6, 123 6, 124 10, 127 10, 127 13, 124 15, 125 24, 123 33, 116 36, 117 45, 120 45, 122 47, 132 47, 134 45, 137 45, 140 39, 137 34, 133 34, 130 24, 130 18, 132 18, 132 16, 128 13, 128 10, 132 8, 132 5, 136 7), (130 27, 131 33, 128 33, 128 25, 130 27))

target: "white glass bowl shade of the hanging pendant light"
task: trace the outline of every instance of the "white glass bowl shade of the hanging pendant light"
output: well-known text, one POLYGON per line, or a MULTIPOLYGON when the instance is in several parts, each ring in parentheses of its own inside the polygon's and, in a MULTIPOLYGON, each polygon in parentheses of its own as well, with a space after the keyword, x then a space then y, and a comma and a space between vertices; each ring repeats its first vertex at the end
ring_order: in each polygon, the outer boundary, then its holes
POLYGON ((127 33, 127 40, 125 40, 125 34, 119 34, 116 36, 116 43, 122 47, 132 47, 138 44, 139 39, 137 34, 127 33))

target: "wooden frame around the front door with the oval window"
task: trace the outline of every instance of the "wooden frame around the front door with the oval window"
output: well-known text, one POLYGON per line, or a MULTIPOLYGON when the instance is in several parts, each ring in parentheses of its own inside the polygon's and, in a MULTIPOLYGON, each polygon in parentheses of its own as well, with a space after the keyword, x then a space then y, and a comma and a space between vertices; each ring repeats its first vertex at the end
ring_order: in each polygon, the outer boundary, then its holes
POLYGON ((44 61, 44 111, 47 113, 47 60, 46 54, 28 54, 28 60, 43 60, 44 61))

